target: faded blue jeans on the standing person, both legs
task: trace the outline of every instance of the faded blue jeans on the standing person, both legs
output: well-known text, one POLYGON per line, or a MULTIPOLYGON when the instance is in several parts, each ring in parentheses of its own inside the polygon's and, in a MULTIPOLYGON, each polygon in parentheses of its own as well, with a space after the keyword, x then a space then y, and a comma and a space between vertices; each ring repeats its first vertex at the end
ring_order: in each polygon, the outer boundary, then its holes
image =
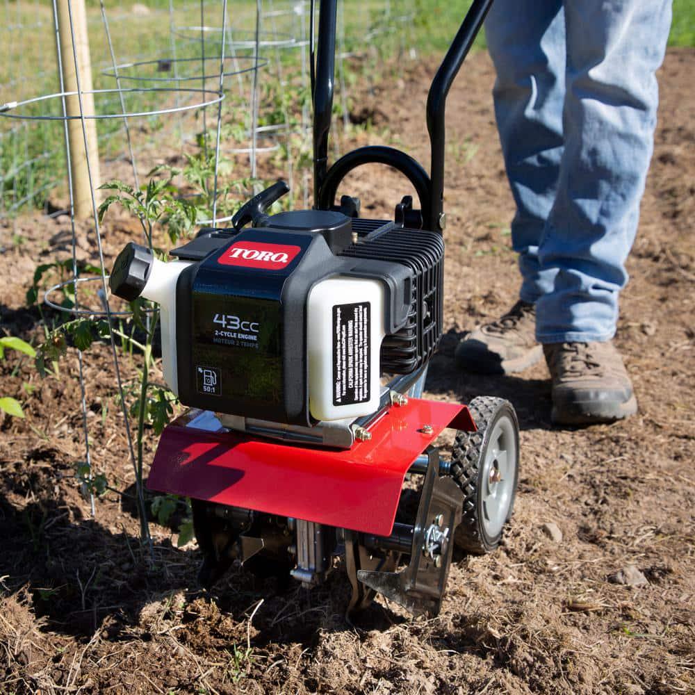
POLYGON ((653 151, 671 0, 496 0, 486 36, 541 343, 608 341, 653 151))

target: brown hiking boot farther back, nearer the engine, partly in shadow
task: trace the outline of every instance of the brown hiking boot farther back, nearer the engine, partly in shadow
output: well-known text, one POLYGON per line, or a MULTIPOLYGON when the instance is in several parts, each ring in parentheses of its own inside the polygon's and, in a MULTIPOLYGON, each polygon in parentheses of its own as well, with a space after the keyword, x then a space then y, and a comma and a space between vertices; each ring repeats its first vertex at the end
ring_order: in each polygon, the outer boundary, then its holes
POLYGON ((521 372, 541 359, 536 342, 536 308, 519 300, 508 313, 476 328, 457 345, 459 367, 482 374, 521 372))

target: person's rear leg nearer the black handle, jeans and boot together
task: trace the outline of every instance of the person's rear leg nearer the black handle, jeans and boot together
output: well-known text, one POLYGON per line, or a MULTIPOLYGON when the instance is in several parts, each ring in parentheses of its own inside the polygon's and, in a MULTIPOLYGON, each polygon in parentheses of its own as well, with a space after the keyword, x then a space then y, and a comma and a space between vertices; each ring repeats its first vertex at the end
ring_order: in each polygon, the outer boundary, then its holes
POLYGON ((550 291, 555 275, 541 272, 537 254, 562 158, 562 0, 496 0, 485 31, 497 72, 493 97, 500 143, 516 201, 512 247, 519 254, 521 300, 461 341, 456 359, 469 371, 514 373, 541 359, 534 302, 550 291))

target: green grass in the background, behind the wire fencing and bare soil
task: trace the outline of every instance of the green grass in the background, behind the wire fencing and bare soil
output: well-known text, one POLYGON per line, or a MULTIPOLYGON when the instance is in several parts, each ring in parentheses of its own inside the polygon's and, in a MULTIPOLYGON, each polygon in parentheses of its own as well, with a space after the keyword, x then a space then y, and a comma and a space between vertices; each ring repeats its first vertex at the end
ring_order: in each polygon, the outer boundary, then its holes
MULTIPOLYGON (((145 4, 151 9, 150 14, 137 17, 131 15, 129 3, 110 1, 107 4, 111 36, 120 63, 138 58, 171 57, 168 0, 145 0, 145 4)), ((469 4, 466 0, 461 3, 448 0, 391 0, 390 6, 387 6, 385 0, 345 0, 342 12, 339 11, 339 19, 342 17, 345 21, 345 49, 355 53, 367 52, 367 60, 358 63, 359 74, 347 74, 348 85, 357 81, 377 81, 380 76, 387 74, 384 73, 387 59, 402 54, 410 47, 416 49, 420 58, 443 56, 469 4), (409 9, 414 9, 413 21, 404 19, 409 9)), ((175 8, 174 23, 177 26, 199 24, 197 0, 179 1, 175 8)), ((217 3, 206 3, 205 24, 221 24, 220 8, 221 3, 219 6, 217 3)), ((229 12, 235 27, 240 26, 250 31, 254 26, 254 0, 231 0, 229 12)), ((100 67, 109 62, 110 56, 97 0, 88 0, 88 17, 92 65, 95 65, 95 88, 111 88, 115 86, 115 81, 102 74, 100 67)), ((286 20, 266 19, 264 28, 272 30, 274 21, 286 20)), ((42 1, 20 0, 6 3, 4 9, 0 10, 0 103, 58 91, 52 22, 50 5, 42 1), (10 85, 13 81, 14 84, 10 85)), ((287 28, 276 24, 275 29, 282 32, 287 28)), ((199 56, 199 44, 193 40, 194 32, 190 30, 188 33, 191 40, 181 37, 177 39, 179 58, 199 56)), ((478 48, 485 47, 484 33, 477 38, 475 45, 478 48)), ((673 0, 669 46, 695 46, 695 0, 673 0)), ((219 51, 220 42, 215 41, 215 34, 206 35, 206 54, 215 56, 219 51)), ((276 53, 274 49, 266 48, 261 54, 268 54, 267 57, 271 60, 276 60, 279 56, 284 70, 290 70, 295 76, 300 70, 300 52, 295 49, 276 53)), ((190 67, 194 71, 199 70, 199 63, 190 63, 190 67)), ((138 68, 140 74, 149 71, 149 74, 154 75, 156 70, 156 66, 138 68)), ((217 72, 216 66, 211 72, 217 72)), ((133 74, 133 70, 126 70, 123 74, 133 74)), ((266 71, 264 79, 268 80, 268 75, 272 75, 272 72, 266 71)), ((272 77, 270 82, 272 83, 272 77)), ((234 88, 233 83, 234 79, 230 79, 228 90, 234 88)), ((138 86, 143 83, 124 79, 122 84, 138 86)), ((161 83, 145 83, 145 86, 161 86, 161 83)), ((183 83, 183 86, 199 85, 183 83)), ((215 89, 216 86, 216 81, 213 80, 207 88, 215 89)), ((154 108, 156 104, 166 103, 167 99, 172 101, 173 97, 161 94, 129 95, 126 108, 129 111, 145 111, 154 108)), ((97 111, 101 113, 117 113, 120 109, 115 96, 99 96, 95 101, 97 111)), ((229 99, 230 108, 235 101, 237 100, 229 99)), ((339 99, 336 99, 336 104, 339 105, 339 99)), ((266 107, 268 104, 263 105, 263 108, 266 107)), ((272 104, 268 108, 272 110, 272 104)), ((58 113, 59 110, 60 101, 53 99, 36 104, 24 113, 58 113)), ((244 122, 246 115, 240 115, 240 124, 244 122)), ((189 124, 193 123, 194 117, 193 113, 188 113, 189 124)), ((167 128, 163 126, 174 122, 179 122, 178 117, 133 120, 133 130, 141 131, 136 138, 136 147, 153 147, 166 140, 167 128)), ((102 156, 121 154, 124 149, 122 122, 100 121, 98 129, 102 156), (110 138, 112 134, 115 137, 110 138)), ((60 172, 64 171, 62 123, 21 122, 0 118, 0 215, 3 207, 8 208, 17 201, 25 200, 27 205, 43 204, 52 182, 62 179, 60 172), (32 166, 23 165, 29 158, 37 156, 40 159, 32 166)))

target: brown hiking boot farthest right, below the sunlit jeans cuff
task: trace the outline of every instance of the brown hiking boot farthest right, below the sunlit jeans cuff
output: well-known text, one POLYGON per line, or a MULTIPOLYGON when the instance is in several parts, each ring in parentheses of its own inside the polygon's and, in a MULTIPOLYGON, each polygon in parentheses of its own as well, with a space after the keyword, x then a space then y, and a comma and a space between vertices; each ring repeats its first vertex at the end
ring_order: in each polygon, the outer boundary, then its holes
POLYGON ((610 423, 637 412, 630 377, 613 343, 550 343, 543 352, 553 379, 554 423, 610 423))

